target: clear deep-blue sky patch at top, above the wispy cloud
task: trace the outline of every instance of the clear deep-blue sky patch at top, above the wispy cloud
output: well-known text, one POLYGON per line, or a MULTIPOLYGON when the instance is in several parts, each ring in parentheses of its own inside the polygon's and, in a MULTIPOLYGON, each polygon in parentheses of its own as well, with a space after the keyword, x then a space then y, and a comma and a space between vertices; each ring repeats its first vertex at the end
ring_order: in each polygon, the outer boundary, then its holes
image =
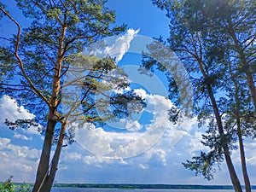
POLYGON ((109 0, 108 6, 115 10, 117 23, 140 29, 140 35, 167 38, 169 21, 166 13, 157 9, 150 0, 109 0))

